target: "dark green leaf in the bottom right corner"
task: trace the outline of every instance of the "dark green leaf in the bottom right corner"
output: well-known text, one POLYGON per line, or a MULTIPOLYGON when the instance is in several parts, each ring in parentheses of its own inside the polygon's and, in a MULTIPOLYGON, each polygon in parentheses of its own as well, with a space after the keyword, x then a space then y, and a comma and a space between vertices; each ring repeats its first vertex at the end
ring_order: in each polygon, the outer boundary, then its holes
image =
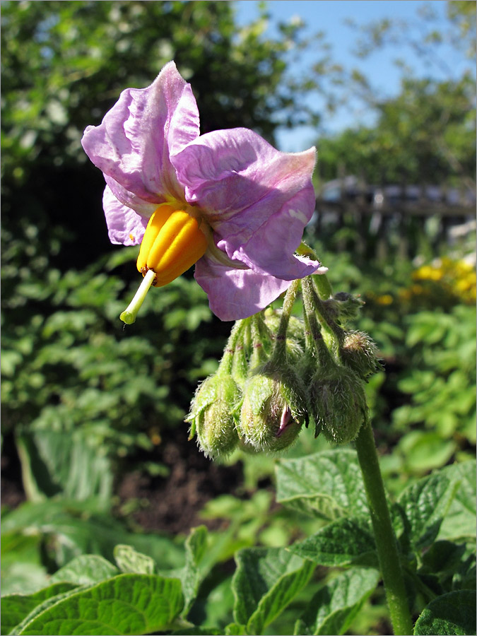
POLYGON ((476 633, 476 593, 467 589, 437 596, 420 614, 414 626, 415 635, 476 633))

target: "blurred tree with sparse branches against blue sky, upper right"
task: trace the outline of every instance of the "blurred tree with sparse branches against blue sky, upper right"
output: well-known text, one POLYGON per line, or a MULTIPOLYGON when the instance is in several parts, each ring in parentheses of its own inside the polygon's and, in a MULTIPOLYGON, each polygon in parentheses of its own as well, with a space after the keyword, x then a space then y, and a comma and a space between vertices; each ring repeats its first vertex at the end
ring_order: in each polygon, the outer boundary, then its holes
MULTIPOLYGON (((476 2, 447 3, 447 27, 437 29, 435 13, 420 7, 416 22, 380 20, 362 29, 356 54, 367 57, 394 45, 411 47, 437 75, 417 78, 402 61, 401 91, 383 98, 360 71, 350 76, 351 91, 376 114, 374 126, 358 126, 321 139, 319 175, 333 179, 338 166, 368 182, 459 183, 475 189, 476 170, 476 2), (441 45, 451 45, 469 65, 456 77, 442 56, 441 45)), ((351 23, 355 28, 357 25, 351 23)))

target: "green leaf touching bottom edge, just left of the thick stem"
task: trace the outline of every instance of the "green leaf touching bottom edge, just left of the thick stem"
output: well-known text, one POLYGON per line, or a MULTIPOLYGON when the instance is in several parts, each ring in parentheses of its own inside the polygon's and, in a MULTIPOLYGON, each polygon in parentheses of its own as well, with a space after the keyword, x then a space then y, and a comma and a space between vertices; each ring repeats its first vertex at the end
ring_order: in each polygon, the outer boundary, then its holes
POLYGON ((376 570, 342 572, 314 595, 295 634, 344 634, 378 582, 376 570))

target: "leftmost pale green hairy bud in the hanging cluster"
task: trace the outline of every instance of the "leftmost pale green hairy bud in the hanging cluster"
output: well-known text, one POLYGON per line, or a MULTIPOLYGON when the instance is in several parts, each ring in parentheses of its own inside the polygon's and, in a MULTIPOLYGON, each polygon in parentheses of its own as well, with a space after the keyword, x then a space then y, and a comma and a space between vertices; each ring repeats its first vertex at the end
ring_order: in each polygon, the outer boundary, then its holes
POLYGON ((186 421, 206 457, 222 459, 237 446, 236 413, 241 399, 237 383, 227 373, 208 377, 197 389, 186 421))

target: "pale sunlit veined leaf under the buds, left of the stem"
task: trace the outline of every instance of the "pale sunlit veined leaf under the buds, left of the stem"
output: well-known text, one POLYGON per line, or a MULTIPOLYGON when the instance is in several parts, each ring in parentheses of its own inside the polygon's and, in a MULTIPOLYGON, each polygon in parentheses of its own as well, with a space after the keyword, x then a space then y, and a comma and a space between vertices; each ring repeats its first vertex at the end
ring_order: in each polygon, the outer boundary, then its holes
POLYGON ((334 449, 280 461, 278 502, 313 517, 336 519, 367 514, 363 478, 354 451, 334 449))

